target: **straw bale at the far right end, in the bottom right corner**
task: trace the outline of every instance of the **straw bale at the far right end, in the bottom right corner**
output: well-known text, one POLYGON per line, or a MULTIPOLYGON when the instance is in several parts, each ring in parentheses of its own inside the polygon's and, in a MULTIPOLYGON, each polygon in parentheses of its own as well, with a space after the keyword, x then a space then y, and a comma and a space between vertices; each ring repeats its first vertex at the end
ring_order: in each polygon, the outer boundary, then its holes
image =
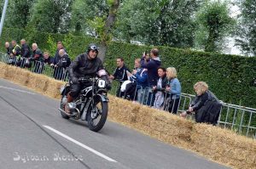
POLYGON ((191 149, 236 168, 256 168, 256 142, 235 132, 195 124, 191 149))

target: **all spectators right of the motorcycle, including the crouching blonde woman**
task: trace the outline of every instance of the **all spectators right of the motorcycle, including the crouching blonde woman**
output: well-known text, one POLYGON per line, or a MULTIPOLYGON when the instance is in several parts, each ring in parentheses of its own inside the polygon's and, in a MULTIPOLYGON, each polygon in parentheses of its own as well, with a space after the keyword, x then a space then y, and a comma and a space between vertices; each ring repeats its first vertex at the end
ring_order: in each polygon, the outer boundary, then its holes
MULTIPOLYGON (((135 59, 132 71, 126 67, 123 58, 116 61, 117 67, 109 78, 119 82, 117 97, 177 114, 181 101, 181 83, 177 78, 176 68, 165 68, 161 65, 157 48, 153 48, 149 53, 145 52, 141 59, 135 59)), ((189 109, 180 115, 186 117, 194 113, 196 122, 216 125, 220 102, 208 90, 206 82, 197 82, 194 88, 195 99, 190 103, 189 109)))

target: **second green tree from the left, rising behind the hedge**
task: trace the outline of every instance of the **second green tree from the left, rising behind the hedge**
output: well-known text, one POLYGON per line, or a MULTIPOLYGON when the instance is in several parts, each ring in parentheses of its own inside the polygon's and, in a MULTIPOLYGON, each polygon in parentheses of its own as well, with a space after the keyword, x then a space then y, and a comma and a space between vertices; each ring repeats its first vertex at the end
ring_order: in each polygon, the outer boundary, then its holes
POLYGON ((72 0, 44 0, 35 3, 30 25, 37 31, 67 33, 72 0))

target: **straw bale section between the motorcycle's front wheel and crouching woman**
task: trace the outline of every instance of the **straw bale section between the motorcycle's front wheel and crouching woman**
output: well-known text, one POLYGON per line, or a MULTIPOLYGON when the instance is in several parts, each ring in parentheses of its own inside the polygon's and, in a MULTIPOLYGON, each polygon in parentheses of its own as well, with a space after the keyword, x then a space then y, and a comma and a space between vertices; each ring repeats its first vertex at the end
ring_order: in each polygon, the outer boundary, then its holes
POLYGON ((186 147, 193 122, 162 110, 109 96, 109 117, 169 144, 186 147))

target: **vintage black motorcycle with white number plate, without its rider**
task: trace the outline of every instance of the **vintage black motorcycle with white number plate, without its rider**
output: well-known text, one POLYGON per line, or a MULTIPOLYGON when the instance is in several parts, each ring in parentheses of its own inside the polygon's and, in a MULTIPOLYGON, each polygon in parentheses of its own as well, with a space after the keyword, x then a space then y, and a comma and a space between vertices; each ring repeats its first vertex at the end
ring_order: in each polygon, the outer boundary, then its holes
POLYGON ((61 105, 59 108, 61 116, 65 119, 73 118, 88 121, 90 130, 98 132, 102 129, 108 117, 107 82, 98 77, 80 78, 79 82, 84 84, 84 88, 80 91, 79 97, 73 101, 70 114, 67 114, 64 110, 70 84, 67 83, 61 87, 61 105))

